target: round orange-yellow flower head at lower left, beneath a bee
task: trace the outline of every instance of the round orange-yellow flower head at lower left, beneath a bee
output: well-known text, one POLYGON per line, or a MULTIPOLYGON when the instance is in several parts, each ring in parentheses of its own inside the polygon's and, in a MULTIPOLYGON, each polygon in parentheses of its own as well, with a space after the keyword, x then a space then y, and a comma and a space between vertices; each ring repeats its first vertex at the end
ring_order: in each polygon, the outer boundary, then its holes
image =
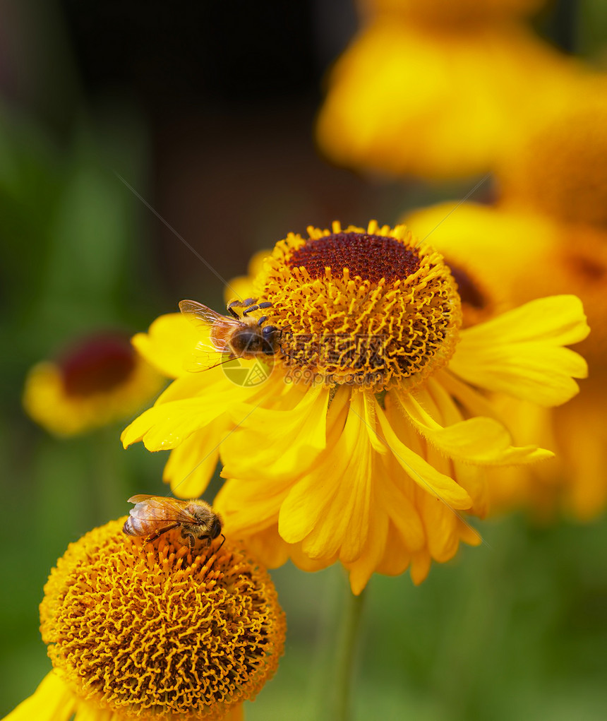
POLYGON ((48 655, 77 696, 126 718, 222 719, 273 675, 285 620, 269 575, 229 541, 192 556, 111 521, 71 544, 40 605, 48 655))

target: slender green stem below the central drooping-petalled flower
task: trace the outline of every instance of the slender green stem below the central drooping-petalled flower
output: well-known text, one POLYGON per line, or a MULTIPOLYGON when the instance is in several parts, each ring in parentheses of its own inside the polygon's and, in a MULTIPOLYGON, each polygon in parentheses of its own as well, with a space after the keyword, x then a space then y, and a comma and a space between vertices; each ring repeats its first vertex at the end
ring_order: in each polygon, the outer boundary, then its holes
POLYGON ((350 589, 347 590, 345 607, 342 608, 342 623, 340 635, 334 655, 334 685, 329 709, 329 718, 334 721, 350 720, 350 682, 353 676, 353 667, 360 631, 364 594, 355 596, 350 589))

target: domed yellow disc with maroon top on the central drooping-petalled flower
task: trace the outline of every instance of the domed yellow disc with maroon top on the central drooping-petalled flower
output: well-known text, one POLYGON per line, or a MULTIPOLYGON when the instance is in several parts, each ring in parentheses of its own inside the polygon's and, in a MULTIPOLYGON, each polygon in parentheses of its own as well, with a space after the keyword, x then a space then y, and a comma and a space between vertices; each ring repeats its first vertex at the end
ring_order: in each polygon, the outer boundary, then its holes
POLYGON ((288 374, 411 389, 448 361, 461 309, 438 252, 405 226, 308 232, 280 241, 256 279, 288 374))

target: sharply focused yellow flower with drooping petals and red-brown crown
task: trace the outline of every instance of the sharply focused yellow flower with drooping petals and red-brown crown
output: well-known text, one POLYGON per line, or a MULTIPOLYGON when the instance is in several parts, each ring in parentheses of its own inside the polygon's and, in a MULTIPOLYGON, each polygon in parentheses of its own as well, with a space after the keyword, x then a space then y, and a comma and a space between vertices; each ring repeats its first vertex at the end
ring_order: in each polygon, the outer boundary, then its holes
POLYGON ((280 334, 265 383, 186 371, 203 331, 161 317, 135 342, 176 379, 123 443, 174 449, 164 479, 184 497, 221 451, 218 510, 267 565, 339 559, 355 593, 374 571, 410 566, 419 583, 431 559, 479 542, 461 512, 485 511, 482 466, 551 456, 513 446, 482 389, 544 405, 575 395, 585 362, 563 346, 588 332, 582 307, 544 298, 461 329, 453 275, 405 226, 308 233, 278 242, 252 283, 271 304, 252 314, 280 334))

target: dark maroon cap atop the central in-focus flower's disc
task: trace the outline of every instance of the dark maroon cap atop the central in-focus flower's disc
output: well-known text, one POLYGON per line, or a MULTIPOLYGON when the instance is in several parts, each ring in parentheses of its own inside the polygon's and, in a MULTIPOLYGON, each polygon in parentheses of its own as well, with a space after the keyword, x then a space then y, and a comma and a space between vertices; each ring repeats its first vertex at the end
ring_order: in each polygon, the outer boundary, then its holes
POLYGON ((420 258, 414 250, 396 238, 366 233, 334 233, 309 240, 293 252, 289 267, 306 268, 311 278, 324 278, 325 267, 333 273, 350 271, 350 278, 387 283, 407 278, 420 267, 420 258))

